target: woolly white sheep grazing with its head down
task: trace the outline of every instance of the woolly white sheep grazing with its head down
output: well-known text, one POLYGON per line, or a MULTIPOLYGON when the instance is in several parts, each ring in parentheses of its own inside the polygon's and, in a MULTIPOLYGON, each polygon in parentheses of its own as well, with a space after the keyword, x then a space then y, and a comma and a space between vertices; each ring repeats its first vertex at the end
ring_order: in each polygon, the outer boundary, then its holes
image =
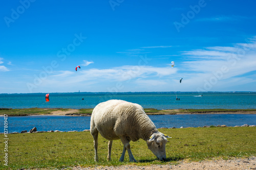
POLYGON ((92 112, 90 132, 94 138, 95 161, 98 161, 98 133, 109 140, 108 160, 111 160, 112 142, 121 139, 123 152, 119 161, 124 160, 127 150, 130 161, 136 162, 130 149, 130 141, 145 140, 158 159, 165 160, 167 135, 160 133, 143 108, 134 103, 109 100, 98 104, 92 112))

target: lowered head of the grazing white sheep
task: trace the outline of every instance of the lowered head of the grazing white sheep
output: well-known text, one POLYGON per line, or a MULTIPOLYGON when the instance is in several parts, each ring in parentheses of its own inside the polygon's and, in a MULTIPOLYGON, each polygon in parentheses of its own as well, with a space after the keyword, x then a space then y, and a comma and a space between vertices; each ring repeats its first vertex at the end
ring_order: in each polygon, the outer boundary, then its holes
POLYGON ((150 149, 153 154, 157 156, 160 160, 166 159, 165 154, 165 144, 167 143, 167 139, 169 136, 163 133, 153 133, 149 140, 147 140, 147 147, 150 149))

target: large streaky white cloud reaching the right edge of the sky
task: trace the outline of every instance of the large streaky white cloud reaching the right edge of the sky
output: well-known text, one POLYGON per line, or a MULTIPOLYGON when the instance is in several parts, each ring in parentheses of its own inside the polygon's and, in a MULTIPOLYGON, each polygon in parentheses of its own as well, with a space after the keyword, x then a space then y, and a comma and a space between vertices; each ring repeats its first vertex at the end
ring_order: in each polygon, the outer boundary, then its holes
MULTIPOLYGON (((249 72, 256 70, 255 42, 205 49, 182 52, 187 61, 181 63, 179 71, 186 73, 183 80, 189 83, 190 88, 194 88, 193 91, 199 88, 205 91, 231 90, 234 86, 256 82, 250 76, 246 76, 249 72)), ((246 91, 246 89, 240 89, 240 91, 246 91)))

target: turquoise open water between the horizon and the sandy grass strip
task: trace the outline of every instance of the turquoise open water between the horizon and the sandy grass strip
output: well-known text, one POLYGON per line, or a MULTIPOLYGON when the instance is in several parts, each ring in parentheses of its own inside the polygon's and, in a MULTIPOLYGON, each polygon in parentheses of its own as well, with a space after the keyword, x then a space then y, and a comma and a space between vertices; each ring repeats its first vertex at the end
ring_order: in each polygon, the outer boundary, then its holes
POLYGON ((156 109, 256 109, 256 93, 50 93, 50 102, 45 101, 46 93, 0 94, 0 108, 94 108, 100 102, 111 99, 125 100, 140 104, 143 108, 156 109), (180 98, 180 100, 176 100, 180 98), (84 99, 84 100, 82 100, 84 99))

